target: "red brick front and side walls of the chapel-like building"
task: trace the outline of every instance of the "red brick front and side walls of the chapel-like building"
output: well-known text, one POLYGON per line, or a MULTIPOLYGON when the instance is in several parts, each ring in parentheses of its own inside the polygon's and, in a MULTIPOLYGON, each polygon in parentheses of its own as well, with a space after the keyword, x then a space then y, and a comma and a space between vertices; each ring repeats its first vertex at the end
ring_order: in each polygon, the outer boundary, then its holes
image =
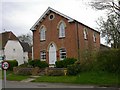
MULTIPOLYGON (((53 20, 49 20, 49 15, 44 18, 44 20, 38 25, 36 31, 33 31, 33 51, 34 59, 40 59, 40 51, 47 51, 47 62, 49 62, 48 48, 50 43, 54 43, 57 48, 57 60, 59 60, 59 49, 65 48, 67 52, 67 57, 78 58, 78 52, 80 52, 80 58, 82 58, 83 51, 98 50, 100 47, 100 35, 97 32, 96 43, 93 42, 93 32, 94 30, 88 28, 88 40, 84 40, 83 29, 84 25, 78 23, 78 27, 75 22, 69 23, 68 20, 54 12, 55 15, 53 20), (66 23, 65 38, 59 38, 59 30, 57 29, 58 23, 63 20, 66 23), (41 25, 46 26, 46 40, 40 41, 39 29, 41 25), (78 31, 77 31, 78 29, 78 31), (79 46, 78 46, 79 42, 79 46), (78 50, 78 47, 80 49, 78 50)), ((50 14, 51 14, 50 13, 50 14)), ((96 32, 96 31, 95 31, 96 32)))

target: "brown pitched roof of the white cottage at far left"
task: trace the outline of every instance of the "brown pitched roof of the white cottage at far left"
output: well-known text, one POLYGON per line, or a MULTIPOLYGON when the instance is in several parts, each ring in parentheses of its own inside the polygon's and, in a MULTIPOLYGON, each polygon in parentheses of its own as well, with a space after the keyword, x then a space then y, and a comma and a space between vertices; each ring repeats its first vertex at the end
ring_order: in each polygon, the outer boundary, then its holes
POLYGON ((8 40, 18 40, 18 38, 11 32, 0 33, 0 49, 3 49, 8 40))

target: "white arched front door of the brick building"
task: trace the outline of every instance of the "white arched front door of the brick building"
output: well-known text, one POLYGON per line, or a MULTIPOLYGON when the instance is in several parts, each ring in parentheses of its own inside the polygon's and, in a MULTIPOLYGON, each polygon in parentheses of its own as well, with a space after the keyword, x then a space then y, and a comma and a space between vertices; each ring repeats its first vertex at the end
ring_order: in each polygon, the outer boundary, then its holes
POLYGON ((56 62, 56 47, 51 44, 49 47, 49 64, 55 64, 56 62))

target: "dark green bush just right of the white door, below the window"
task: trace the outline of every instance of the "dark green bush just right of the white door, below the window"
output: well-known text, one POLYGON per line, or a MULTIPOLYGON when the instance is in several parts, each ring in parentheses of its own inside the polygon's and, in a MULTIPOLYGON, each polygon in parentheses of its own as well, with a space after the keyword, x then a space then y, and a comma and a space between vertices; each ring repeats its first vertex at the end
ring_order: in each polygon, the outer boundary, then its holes
POLYGON ((61 61, 56 61, 55 65, 57 68, 67 68, 68 65, 74 64, 77 61, 75 58, 65 58, 61 61))

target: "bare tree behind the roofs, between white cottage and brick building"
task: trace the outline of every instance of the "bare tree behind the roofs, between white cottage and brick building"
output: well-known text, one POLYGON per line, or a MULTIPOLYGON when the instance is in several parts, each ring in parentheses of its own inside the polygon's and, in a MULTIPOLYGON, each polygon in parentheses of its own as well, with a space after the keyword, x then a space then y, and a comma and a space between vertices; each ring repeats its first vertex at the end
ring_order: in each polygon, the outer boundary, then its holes
POLYGON ((18 39, 21 42, 27 42, 29 45, 32 45, 32 34, 31 33, 22 34, 18 36, 18 39))

